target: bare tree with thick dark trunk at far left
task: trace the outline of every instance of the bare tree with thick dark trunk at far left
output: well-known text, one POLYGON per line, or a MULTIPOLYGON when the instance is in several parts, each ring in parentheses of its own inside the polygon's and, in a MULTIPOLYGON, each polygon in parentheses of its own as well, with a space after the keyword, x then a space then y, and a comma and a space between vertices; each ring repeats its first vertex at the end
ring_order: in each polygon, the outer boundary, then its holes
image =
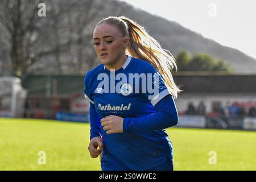
POLYGON ((43 31, 47 21, 40 22, 37 14, 38 3, 39 1, 32 0, 3 0, 0 3, 0 23, 7 35, 3 44, 9 47, 11 75, 24 76, 30 65, 40 56, 49 53, 33 49, 36 43, 47 39, 43 31))

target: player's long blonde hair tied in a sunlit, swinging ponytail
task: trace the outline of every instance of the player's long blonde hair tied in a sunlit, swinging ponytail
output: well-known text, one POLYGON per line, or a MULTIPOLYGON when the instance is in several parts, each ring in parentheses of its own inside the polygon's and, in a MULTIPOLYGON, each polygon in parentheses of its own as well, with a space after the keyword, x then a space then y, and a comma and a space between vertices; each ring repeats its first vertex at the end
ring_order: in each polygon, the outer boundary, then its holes
POLYGON ((97 26, 102 23, 112 24, 121 31, 123 37, 129 37, 130 46, 126 49, 126 54, 152 64, 163 76, 172 96, 177 98, 177 93, 183 90, 176 86, 171 74, 172 69, 175 68, 177 71, 176 61, 171 52, 163 49, 142 26, 125 16, 109 16, 102 19, 97 26))

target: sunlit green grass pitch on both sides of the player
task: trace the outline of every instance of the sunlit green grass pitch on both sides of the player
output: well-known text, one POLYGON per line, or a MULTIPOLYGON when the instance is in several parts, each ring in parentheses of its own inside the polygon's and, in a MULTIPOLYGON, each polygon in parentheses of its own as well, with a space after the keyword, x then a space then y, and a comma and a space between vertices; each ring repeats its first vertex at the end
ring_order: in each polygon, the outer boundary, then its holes
MULTIPOLYGON (((0 118, 0 170, 101 170, 87 150, 89 125, 0 118), (38 164, 39 151, 46 164, 38 164)), ((175 170, 256 170, 256 132, 167 129, 175 170), (209 152, 216 164, 209 164, 209 152)))

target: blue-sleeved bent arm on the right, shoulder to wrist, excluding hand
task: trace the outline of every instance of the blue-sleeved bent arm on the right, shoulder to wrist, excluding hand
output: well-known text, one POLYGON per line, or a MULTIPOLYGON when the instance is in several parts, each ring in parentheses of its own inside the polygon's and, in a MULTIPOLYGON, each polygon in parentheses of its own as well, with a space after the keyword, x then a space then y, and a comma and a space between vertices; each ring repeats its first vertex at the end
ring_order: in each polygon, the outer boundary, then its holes
POLYGON ((146 97, 155 107, 155 113, 139 118, 124 118, 123 131, 154 131, 177 125, 179 117, 170 88, 152 65, 146 73, 152 75, 152 81, 147 80, 147 85, 152 85, 154 93, 147 90, 146 97))

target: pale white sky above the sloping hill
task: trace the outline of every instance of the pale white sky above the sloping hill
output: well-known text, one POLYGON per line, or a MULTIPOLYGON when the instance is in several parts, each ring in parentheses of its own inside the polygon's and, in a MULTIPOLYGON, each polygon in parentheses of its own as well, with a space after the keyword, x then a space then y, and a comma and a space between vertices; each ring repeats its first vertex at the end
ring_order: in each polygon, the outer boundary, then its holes
POLYGON ((256 59, 254 0, 120 0, 256 59), (157 3, 156 3, 157 2, 157 3))

